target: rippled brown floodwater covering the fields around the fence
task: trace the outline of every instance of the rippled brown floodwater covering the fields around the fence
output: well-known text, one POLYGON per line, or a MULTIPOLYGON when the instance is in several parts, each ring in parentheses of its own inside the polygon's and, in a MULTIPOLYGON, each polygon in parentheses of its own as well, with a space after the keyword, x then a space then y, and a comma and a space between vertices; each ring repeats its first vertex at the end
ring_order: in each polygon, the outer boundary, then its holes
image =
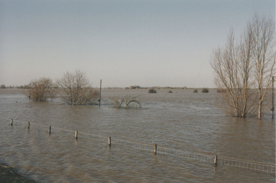
POLYGON ((275 173, 75 140, 32 124, 160 147, 275 164, 275 120, 231 118, 217 93, 190 89, 103 89, 101 107, 35 103, 20 89, 0 89, 0 163, 37 182, 275 182, 275 173), (144 109, 110 108, 112 95, 142 94, 144 109), (14 125, 10 127, 10 119, 14 125), (27 122, 30 129, 27 129, 27 122), (23 122, 23 125, 22 123, 23 122), (25 123, 24 123, 25 122, 25 123))

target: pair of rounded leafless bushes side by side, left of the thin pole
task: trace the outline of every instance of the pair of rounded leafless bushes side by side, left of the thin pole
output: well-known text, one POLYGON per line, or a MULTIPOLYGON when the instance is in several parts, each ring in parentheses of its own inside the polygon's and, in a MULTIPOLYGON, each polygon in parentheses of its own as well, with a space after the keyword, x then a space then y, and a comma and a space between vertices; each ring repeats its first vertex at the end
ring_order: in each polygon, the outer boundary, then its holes
POLYGON ((27 95, 37 102, 59 97, 68 105, 95 105, 99 98, 99 92, 92 89, 86 74, 79 70, 66 72, 55 83, 50 78, 34 79, 27 95))

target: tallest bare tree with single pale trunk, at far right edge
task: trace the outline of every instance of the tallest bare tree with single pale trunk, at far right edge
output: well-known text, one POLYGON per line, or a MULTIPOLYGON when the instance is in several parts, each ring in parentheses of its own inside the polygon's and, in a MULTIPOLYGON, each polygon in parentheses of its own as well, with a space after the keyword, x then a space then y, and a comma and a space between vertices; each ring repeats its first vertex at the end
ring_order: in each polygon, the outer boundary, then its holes
POLYGON ((272 86, 271 77, 275 74, 275 21, 255 14, 248 23, 248 31, 253 32, 253 75, 258 89, 258 118, 262 118, 262 106, 272 86))

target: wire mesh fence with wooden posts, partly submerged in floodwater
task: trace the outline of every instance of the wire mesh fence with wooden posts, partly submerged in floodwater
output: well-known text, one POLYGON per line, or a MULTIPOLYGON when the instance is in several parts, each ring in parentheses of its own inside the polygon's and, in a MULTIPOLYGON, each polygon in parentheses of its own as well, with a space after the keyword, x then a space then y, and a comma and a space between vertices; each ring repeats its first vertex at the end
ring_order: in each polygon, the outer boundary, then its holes
MULTIPOLYGON (((250 169, 253 171, 263 171, 266 173, 275 173, 275 164, 267 164, 262 162, 253 162, 253 161, 247 161, 247 160, 238 160, 233 158, 225 158, 225 157, 218 157, 217 155, 204 155, 203 153, 192 153, 189 151, 179 151, 176 149, 170 149, 166 147, 157 147, 157 144, 149 145, 149 144, 141 144, 138 142, 131 142, 128 140, 120 140, 117 138, 111 138, 111 137, 103 137, 98 135, 93 135, 92 133, 84 133, 80 131, 73 131, 70 129, 61 129, 58 127, 51 127, 46 125, 39 125, 37 123, 30 122, 20 122, 21 125, 25 124, 28 129, 30 129, 30 125, 34 126, 35 129, 43 129, 48 130, 48 133, 63 133, 68 136, 75 136, 75 139, 83 138, 83 139, 89 139, 94 140, 97 142, 101 142, 104 144, 111 145, 118 145, 123 147, 130 147, 132 149, 140 149, 143 151, 150 151, 153 152, 155 155, 157 153, 164 154, 164 155, 174 155, 177 157, 181 157, 188 160, 198 160, 201 162, 210 162, 213 163, 214 166, 217 166, 218 164, 221 165, 228 165, 228 166, 235 166, 242 169, 250 169)), ((13 120, 10 121, 10 125, 14 125, 13 120)))

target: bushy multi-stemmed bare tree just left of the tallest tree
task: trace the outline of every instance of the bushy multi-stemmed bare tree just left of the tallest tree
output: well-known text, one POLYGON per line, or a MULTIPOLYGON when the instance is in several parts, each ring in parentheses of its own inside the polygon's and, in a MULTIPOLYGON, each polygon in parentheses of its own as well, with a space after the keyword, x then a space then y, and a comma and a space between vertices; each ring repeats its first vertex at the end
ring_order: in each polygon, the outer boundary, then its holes
POLYGON ((222 108, 230 116, 245 118, 255 110, 250 92, 252 81, 249 78, 252 68, 251 36, 250 32, 244 32, 237 44, 231 29, 225 47, 214 50, 210 61, 215 71, 215 85, 225 91, 219 93, 222 108))

